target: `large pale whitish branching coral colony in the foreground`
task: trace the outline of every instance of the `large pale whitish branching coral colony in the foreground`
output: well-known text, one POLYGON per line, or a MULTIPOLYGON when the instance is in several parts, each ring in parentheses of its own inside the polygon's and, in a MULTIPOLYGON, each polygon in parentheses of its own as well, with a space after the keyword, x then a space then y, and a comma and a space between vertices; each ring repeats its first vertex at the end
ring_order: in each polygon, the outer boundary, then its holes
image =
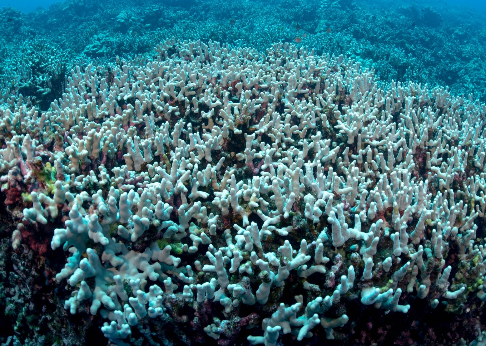
POLYGON ((486 105, 293 45, 156 51, 0 108, 11 246, 52 230, 26 246, 65 251, 70 314, 121 345, 162 319, 272 346, 326 343, 352 305, 486 300, 486 105))

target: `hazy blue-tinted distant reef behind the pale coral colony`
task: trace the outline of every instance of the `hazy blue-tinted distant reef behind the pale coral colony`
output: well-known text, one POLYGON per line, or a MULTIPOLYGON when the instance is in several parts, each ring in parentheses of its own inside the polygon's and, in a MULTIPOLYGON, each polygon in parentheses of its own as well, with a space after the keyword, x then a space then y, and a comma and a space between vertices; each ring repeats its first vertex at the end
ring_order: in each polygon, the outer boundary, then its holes
POLYGON ((63 1, 0 10, 0 99, 22 94, 41 110, 73 66, 154 54, 171 37, 265 50, 276 42, 346 55, 382 82, 449 86, 486 99, 486 14, 420 1, 63 1), (421 6, 421 7, 420 7, 421 6), (379 9, 379 10, 378 10, 379 9))

